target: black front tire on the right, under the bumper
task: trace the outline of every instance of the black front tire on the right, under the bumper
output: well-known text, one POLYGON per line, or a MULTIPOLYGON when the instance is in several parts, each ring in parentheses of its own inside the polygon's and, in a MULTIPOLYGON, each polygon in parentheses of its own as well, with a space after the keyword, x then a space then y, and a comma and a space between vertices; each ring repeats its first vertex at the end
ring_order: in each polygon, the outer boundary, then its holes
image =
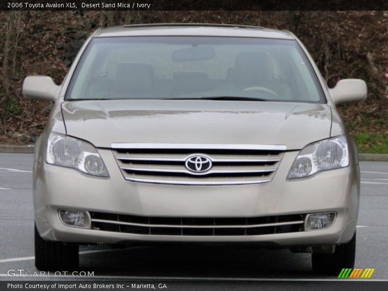
POLYGON ((336 246, 333 254, 312 254, 312 269, 320 275, 339 275, 342 268, 353 268, 356 257, 356 232, 348 243, 336 246))

